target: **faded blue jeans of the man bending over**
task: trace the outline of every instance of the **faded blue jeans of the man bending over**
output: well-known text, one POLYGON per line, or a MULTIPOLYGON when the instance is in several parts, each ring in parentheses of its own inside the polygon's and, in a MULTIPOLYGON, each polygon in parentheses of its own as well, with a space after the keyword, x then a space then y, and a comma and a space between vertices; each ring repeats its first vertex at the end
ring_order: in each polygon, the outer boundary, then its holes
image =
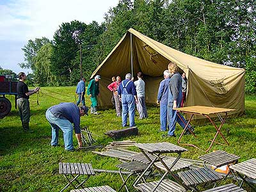
POLYGON ((57 118, 52 115, 51 111, 47 109, 45 116, 52 127, 52 140, 51 145, 58 145, 59 129, 63 131, 65 150, 73 150, 73 126, 67 119, 57 118))

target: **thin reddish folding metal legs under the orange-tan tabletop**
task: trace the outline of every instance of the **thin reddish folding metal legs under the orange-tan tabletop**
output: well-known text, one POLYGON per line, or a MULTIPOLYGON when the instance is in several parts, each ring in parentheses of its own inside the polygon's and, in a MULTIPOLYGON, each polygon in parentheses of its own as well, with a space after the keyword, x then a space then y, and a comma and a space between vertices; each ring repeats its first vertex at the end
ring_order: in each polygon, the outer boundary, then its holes
MULTIPOLYGON (((216 129, 216 134, 215 134, 213 140, 211 140, 211 144, 210 144, 209 148, 207 148, 207 150, 205 150, 205 152, 209 152, 209 150, 212 148, 213 143, 216 142, 215 140, 216 140, 218 134, 220 134, 221 137, 223 138, 223 140, 225 141, 225 143, 227 143, 227 145, 229 145, 228 141, 226 140, 226 138, 223 136, 223 134, 222 134, 221 131, 220 131, 221 127, 223 126, 223 124, 225 123, 225 120, 226 120, 226 118, 227 118, 227 114, 228 114, 227 112, 223 112, 223 113, 225 113, 225 117, 221 120, 220 126, 217 127, 217 125, 212 121, 212 119, 211 119, 211 117, 210 117, 209 115, 206 115, 206 114, 203 114, 203 113, 193 113, 193 112, 188 112, 188 111, 182 111, 182 110, 179 110, 179 111, 181 111, 181 112, 183 112, 183 113, 192 114, 191 117, 190 117, 189 120, 188 120, 188 123, 186 124, 185 128, 183 129, 183 131, 182 131, 181 134, 180 134, 180 137, 179 137, 179 140, 178 140, 178 143, 179 143, 180 145, 186 145, 186 146, 195 147, 195 148, 198 148, 198 149, 200 149, 200 150, 203 150, 202 148, 199 148, 199 147, 197 147, 196 145, 193 145, 193 144, 189 144, 189 143, 180 143, 180 140, 181 140, 181 138, 182 138, 182 136, 184 135, 184 132, 185 132, 186 130, 188 130, 189 132, 191 132, 191 134, 193 134, 193 136, 196 138, 195 133, 192 132, 192 131, 189 129, 189 126, 188 126, 189 123, 191 122, 191 120, 192 120, 192 118, 193 118, 194 115, 203 115, 203 116, 207 117, 207 118, 209 119, 209 121, 211 122, 211 124, 212 124, 212 125, 214 126, 214 128, 216 129)), ((180 117, 179 113, 177 113, 177 115, 180 117)), ((218 143, 218 144, 221 144, 221 143, 218 143)))

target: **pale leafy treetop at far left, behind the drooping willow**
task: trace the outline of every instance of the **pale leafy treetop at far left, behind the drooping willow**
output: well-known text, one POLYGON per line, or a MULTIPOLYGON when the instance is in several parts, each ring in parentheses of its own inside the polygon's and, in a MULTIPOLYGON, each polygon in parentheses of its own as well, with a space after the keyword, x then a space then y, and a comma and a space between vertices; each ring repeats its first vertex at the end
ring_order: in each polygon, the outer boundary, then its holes
POLYGON ((24 63, 19 63, 21 68, 31 68, 31 70, 35 70, 35 57, 39 49, 47 44, 50 43, 48 38, 36 38, 34 41, 29 40, 28 44, 22 48, 24 51, 24 63))

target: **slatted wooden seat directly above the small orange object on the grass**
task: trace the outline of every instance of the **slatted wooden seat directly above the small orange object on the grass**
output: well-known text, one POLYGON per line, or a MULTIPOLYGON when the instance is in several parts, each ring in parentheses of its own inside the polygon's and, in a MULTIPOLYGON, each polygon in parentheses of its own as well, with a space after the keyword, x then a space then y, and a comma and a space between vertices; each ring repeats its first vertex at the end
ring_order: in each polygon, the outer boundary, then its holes
POLYGON ((199 159, 202 159, 205 163, 212 164, 217 168, 225 164, 237 163, 240 157, 234 154, 228 154, 223 150, 217 150, 204 156, 200 156, 199 159))

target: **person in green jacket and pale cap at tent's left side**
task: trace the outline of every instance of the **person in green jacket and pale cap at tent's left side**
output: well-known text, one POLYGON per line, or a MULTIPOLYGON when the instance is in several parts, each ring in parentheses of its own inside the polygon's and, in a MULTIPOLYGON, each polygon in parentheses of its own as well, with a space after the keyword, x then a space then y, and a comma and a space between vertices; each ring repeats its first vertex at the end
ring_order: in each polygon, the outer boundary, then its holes
POLYGON ((97 96, 99 95, 99 80, 100 76, 97 75, 92 79, 89 83, 89 86, 87 88, 87 94, 89 95, 92 105, 91 105, 91 113, 94 115, 98 115, 99 113, 97 112, 97 105, 98 105, 98 100, 97 96))

